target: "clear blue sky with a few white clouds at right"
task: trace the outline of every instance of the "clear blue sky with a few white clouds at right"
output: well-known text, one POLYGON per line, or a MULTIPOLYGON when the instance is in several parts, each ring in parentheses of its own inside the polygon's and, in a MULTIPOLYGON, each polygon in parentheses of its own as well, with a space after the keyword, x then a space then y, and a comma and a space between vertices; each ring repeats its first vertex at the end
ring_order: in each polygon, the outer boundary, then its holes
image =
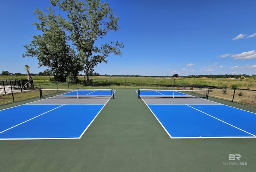
MULTIPOLYGON (((119 16, 117 32, 104 40, 124 43, 95 71, 102 75, 256 74, 256 0, 104 0, 119 16)), ((48 0, 0 2, 0 72, 43 72, 22 57, 23 45, 40 34, 36 7, 48 0)))

